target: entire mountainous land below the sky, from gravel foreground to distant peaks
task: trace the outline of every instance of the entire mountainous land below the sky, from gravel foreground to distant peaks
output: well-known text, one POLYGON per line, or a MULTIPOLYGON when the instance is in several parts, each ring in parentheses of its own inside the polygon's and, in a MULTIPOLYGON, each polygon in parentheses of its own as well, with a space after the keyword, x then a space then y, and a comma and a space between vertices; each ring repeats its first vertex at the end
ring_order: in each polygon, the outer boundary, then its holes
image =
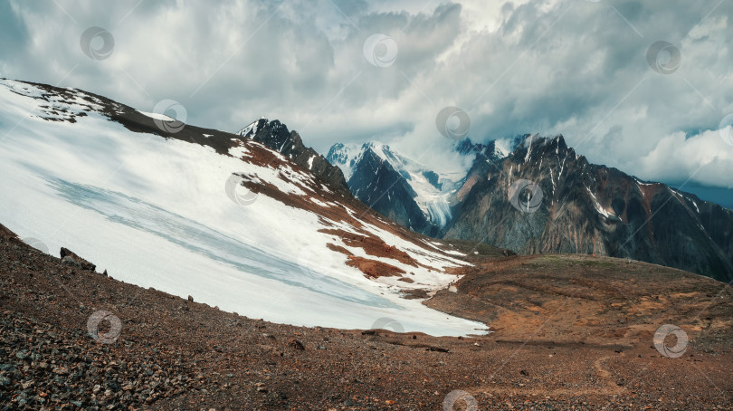
POLYGON ((728 284, 633 260, 727 281, 728 210, 561 136, 455 150, 0 79, 0 403, 730 407, 728 284))

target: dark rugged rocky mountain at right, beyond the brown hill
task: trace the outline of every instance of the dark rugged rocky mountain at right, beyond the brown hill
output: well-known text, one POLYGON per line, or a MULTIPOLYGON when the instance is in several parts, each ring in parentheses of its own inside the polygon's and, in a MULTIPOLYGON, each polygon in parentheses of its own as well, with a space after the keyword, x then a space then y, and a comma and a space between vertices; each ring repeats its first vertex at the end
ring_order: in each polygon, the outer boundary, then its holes
POLYGON ((632 258, 733 279, 733 212, 590 164, 562 136, 527 136, 499 162, 477 160, 456 200, 445 238, 519 253, 632 258))

